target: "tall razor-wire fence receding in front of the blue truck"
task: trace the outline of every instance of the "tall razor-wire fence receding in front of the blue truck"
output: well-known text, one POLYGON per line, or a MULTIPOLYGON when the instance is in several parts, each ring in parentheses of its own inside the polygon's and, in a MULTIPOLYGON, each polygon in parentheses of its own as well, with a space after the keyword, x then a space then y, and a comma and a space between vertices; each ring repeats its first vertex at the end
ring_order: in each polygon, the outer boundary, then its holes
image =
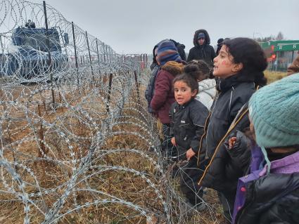
POLYGON ((122 64, 138 68, 49 5, 2 0, 0 13, 0 74, 13 81, 80 80, 123 70, 122 64))

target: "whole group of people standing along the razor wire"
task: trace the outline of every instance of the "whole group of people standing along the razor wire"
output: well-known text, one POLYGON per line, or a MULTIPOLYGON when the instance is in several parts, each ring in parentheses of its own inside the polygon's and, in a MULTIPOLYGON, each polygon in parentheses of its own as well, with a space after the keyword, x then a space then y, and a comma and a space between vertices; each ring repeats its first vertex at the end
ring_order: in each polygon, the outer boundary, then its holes
POLYGON ((299 223, 299 55, 267 85, 256 41, 198 29, 188 57, 172 39, 153 48, 148 112, 189 211, 217 190, 227 223, 299 223))

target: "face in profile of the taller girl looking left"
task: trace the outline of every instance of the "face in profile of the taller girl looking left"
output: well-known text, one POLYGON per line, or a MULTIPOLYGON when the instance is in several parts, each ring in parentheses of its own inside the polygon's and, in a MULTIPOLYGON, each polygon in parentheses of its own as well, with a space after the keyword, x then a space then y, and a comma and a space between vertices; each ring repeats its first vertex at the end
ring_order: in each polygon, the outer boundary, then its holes
POLYGON ((226 79, 236 74, 243 68, 242 63, 234 63, 234 58, 229 54, 227 46, 223 45, 220 49, 219 55, 214 58, 214 72, 215 77, 226 79))

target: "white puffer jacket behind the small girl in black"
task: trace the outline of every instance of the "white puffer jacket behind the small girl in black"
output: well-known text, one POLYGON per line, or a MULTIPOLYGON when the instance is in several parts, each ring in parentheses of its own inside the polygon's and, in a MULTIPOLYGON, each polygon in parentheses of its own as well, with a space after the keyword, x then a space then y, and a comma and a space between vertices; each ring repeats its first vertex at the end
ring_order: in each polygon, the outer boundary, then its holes
POLYGON ((198 94, 196 100, 200 101, 205 107, 210 110, 216 96, 216 81, 215 79, 205 79, 198 82, 198 94))

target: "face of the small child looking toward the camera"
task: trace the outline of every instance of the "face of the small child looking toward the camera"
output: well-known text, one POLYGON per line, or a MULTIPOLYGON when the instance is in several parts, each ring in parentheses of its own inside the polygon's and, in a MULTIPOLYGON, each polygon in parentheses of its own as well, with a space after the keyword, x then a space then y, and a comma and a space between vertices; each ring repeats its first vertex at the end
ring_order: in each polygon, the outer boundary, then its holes
POLYGON ((179 105, 188 103, 196 93, 197 91, 191 91, 191 88, 184 81, 176 81, 174 83, 174 98, 179 105))

